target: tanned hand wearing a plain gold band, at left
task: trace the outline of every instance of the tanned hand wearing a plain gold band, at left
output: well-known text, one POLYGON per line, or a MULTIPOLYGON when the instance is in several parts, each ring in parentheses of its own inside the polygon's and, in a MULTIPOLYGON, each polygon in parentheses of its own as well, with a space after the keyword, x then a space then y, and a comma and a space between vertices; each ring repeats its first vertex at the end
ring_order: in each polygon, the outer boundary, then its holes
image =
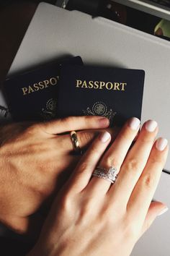
POLYGON ((84 148, 106 128, 108 119, 97 116, 70 117, 42 124, 9 124, 0 129, 0 221, 19 233, 41 226, 37 213, 50 205, 51 195, 61 188, 80 155, 73 155, 71 130, 84 148), (69 167, 69 168, 68 168, 69 167), (33 215, 36 213, 36 215, 33 215), (32 216, 33 215, 33 216, 32 216))

